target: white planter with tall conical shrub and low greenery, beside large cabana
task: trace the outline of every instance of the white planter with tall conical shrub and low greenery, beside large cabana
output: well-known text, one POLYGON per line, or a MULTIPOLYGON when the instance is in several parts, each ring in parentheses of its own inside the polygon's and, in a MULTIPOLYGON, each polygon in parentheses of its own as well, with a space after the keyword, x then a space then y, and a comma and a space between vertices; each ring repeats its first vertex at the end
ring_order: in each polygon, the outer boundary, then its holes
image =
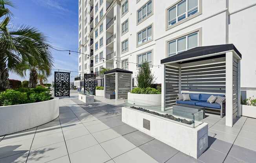
POLYGON ((137 102, 144 106, 160 106, 161 87, 153 88, 155 76, 152 74, 148 62, 142 63, 135 79, 138 87, 128 92, 128 102, 137 102))

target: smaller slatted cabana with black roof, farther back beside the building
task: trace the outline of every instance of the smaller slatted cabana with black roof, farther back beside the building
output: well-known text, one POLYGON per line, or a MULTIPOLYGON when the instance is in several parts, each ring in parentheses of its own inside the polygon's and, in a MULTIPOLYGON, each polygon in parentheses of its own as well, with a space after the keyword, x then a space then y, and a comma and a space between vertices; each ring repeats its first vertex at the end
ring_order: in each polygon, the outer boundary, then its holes
POLYGON ((132 90, 132 71, 124 69, 112 69, 104 72, 104 98, 127 98, 132 90))

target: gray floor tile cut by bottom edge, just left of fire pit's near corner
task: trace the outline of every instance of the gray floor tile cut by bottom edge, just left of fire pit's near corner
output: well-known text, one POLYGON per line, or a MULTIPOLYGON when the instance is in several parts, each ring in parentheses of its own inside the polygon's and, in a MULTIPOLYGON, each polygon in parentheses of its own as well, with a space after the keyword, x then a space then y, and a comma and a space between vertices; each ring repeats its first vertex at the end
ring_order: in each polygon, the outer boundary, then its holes
POLYGON ((176 155, 174 155, 172 158, 166 161, 166 163, 203 163, 203 162, 198 159, 192 158, 187 154, 178 152, 176 155))

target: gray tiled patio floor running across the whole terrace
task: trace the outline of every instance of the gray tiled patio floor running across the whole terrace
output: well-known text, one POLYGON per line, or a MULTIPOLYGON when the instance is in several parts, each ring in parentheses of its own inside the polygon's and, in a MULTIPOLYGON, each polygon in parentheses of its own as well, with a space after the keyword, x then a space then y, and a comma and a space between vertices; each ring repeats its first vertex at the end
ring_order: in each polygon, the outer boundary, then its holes
POLYGON ((59 118, 0 137, 0 163, 256 163, 256 119, 230 128, 208 114, 209 148, 194 159, 124 124, 123 101, 95 99, 62 98, 59 118))

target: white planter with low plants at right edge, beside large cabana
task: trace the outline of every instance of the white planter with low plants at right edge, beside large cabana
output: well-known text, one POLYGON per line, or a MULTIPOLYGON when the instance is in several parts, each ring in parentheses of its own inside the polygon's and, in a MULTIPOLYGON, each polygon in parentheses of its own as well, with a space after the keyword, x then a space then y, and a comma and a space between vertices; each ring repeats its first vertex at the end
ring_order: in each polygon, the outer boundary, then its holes
POLYGON ((243 100, 241 97, 241 115, 256 118, 256 99, 250 97, 243 100))

